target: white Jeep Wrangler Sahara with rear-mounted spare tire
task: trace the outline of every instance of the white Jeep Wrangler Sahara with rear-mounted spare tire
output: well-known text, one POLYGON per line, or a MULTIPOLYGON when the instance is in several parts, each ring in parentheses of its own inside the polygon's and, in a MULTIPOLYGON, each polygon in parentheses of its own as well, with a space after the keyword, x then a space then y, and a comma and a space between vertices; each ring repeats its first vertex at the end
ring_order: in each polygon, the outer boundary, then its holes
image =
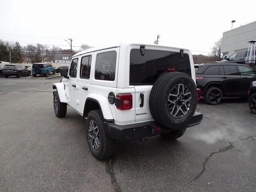
POLYGON ((92 48, 75 54, 61 76, 53 84, 55 115, 64 117, 68 104, 86 118, 88 145, 100 160, 114 155, 117 140, 173 140, 202 121, 187 49, 123 43, 92 48))

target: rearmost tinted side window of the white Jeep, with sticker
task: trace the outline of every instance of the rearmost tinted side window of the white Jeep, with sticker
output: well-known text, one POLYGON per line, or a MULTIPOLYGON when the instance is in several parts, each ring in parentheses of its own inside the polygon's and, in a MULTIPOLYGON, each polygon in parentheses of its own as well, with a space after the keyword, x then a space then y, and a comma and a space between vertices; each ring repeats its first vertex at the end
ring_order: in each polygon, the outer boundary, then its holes
POLYGON ((96 58, 95 79, 114 81, 116 74, 116 52, 99 53, 96 58))

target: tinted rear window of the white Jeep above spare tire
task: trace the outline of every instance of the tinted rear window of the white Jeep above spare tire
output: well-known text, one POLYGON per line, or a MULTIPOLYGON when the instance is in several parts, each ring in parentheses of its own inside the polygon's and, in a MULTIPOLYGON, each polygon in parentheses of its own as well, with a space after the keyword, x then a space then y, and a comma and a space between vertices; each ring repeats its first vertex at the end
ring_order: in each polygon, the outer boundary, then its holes
POLYGON ((176 52, 145 50, 142 56, 139 49, 133 49, 130 55, 130 85, 154 84, 160 74, 167 72, 167 68, 175 68, 191 76, 188 54, 181 58, 176 52))

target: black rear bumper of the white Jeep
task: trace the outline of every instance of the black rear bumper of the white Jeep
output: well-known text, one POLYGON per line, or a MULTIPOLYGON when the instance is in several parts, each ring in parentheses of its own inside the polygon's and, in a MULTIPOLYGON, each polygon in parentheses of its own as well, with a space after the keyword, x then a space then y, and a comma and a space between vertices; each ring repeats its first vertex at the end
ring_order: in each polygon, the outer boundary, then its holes
MULTIPOLYGON (((202 122, 203 114, 195 112, 190 122, 182 130, 198 125, 202 122)), ((156 122, 148 121, 143 123, 117 125, 110 122, 104 122, 104 128, 111 138, 117 140, 136 140, 142 137, 149 137, 163 133, 171 132, 174 129, 162 129, 156 122)))

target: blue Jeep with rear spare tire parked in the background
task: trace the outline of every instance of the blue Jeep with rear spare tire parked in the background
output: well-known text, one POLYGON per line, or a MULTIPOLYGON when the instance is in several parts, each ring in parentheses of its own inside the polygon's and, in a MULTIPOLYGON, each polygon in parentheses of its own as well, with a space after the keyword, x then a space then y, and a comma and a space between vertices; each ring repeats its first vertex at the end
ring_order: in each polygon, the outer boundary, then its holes
POLYGON ((32 65, 32 75, 45 75, 49 76, 49 73, 55 74, 56 69, 50 63, 33 63, 32 65))

